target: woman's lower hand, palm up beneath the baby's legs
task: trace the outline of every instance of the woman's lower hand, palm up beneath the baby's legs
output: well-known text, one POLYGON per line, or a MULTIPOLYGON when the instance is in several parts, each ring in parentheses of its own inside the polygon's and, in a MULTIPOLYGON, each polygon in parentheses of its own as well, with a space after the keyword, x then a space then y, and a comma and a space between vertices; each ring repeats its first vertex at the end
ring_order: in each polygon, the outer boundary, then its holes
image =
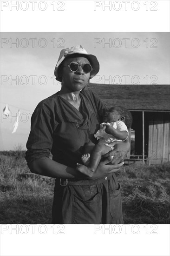
POLYGON ((93 176, 89 179, 95 180, 103 176, 107 176, 113 172, 117 172, 124 165, 124 162, 121 162, 119 164, 114 164, 114 165, 111 165, 111 164, 108 165, 107 163, 110 161, 111 160, 109 158, 106 158, 104 161, 101 161, 98 165, 98 168, 94 172, 93 176))

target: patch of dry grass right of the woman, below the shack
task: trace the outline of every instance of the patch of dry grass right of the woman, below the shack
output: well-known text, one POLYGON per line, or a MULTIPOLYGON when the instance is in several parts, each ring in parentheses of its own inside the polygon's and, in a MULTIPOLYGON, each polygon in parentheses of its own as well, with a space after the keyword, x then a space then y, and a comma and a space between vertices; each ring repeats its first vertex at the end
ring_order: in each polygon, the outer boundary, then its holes
POLYGON ((125 223, 170 223, 170 163, 124 166, 118 180, 125 223))

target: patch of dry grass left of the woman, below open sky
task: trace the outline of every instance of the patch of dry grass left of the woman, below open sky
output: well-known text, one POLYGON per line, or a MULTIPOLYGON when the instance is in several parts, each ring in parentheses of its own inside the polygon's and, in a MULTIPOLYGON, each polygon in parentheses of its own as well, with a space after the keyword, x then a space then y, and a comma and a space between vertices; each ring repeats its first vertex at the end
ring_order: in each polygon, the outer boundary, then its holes
POLYGON ((53 178, 29 173, 23 158, 1 160, 0 223, 50 223, 53 178))

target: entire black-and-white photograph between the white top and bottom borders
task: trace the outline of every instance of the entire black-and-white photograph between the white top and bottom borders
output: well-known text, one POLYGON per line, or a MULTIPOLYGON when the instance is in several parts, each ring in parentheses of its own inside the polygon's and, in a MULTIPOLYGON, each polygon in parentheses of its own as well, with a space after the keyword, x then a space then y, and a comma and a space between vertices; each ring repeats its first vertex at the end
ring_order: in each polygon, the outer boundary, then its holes
POLYGON ((170 34, 1 47, 1 223, 170 223, 170 34))

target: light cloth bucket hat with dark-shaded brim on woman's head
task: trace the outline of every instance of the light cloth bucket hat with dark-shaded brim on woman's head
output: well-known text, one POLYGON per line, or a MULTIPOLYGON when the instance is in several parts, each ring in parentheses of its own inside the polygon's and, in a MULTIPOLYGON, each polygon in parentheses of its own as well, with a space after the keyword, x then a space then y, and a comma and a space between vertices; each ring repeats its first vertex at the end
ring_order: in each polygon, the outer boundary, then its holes
POLYGON ((90 79, 94 77, 96 74, 98 74, 99 71, 99 63, 95 55, 88 54, 86 50, 81 46, 73 46, 70 48, 62 49, 59 54, 59 60, 57 61, 57 64, 55 66, 54 74, 56 76, 56 80, 61 82, 61 77, 58 74, 59 65, 62 63, 62 61, 65 60, 66 57, 68 57, 71 54, 84 54, 85 57, 87 56, 88 60, 90 61, 90 64, 93 68, 93 70, 90 73, 90 79))

